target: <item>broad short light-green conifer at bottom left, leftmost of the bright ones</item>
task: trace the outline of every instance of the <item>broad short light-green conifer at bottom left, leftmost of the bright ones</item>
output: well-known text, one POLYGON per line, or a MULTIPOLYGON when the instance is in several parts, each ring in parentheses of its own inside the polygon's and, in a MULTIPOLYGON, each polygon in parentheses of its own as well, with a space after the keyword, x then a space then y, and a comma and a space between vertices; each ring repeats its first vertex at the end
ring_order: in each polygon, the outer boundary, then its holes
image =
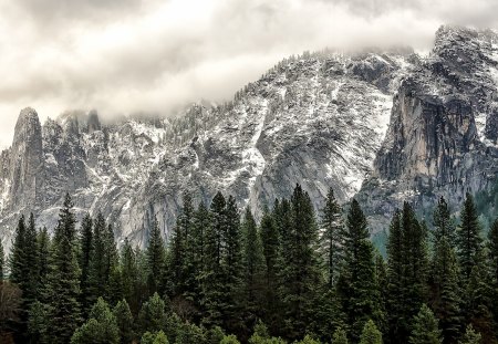
POLYGON ((90 320, 74 332, 71 344, 117 344, 120 332, 116 317, 104 299, 98 298, 90 312, 90 320))

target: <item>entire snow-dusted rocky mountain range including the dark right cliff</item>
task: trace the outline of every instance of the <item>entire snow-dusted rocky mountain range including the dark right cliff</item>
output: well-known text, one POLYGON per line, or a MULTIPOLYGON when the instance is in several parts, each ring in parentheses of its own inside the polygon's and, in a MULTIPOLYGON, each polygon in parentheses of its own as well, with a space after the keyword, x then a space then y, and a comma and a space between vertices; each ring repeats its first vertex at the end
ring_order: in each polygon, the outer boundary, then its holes
MULTIPOLYGON (((317 209, 329 187, 356 196, 381 231, 403 200, 490 192, 498 166, 498 39, 442 27, 427 56, 411 49, 323 51, 281 61, 218 106, 173 118, 101 123, 68 112, 40 124, 21 111, 0 155, 0 230, 20 213, 53 228, 63 195, 79 216, 102 211, 120 239, 145 244, 156 216, 167 237, 181 191, 217 190, 258 213, 297 183, 317 209)), ((422 211, 421 210, 421 211, 422 211)))

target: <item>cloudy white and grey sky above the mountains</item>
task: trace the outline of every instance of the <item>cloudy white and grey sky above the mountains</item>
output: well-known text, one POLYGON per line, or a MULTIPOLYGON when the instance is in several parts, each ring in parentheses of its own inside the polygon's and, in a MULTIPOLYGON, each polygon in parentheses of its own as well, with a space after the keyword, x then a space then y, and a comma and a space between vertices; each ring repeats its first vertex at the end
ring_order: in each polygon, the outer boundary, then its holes
POLYGON ((25 106, 168 114, 304 50, 426 50, 440 24, 497 28, 496 13, 496 0, 0 0, 0 146, 25 106))

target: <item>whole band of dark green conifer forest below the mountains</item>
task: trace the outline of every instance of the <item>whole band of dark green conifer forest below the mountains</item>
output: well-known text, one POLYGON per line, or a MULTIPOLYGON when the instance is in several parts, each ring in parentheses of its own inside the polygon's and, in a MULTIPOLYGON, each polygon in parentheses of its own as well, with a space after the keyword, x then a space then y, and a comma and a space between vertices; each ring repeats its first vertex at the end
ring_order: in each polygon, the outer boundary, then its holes
POLYGON ((498 343, 498 220, 478 217, 469 194, 427 219, 405 202, 383 257, 333 190, 315 210, 297 185, 259 221, 185 192, 168 240, 153 219, 141 249, 102 213, 77 223, 66 195, 50 232, 21 216, 0 244, 0 342, 498 343))

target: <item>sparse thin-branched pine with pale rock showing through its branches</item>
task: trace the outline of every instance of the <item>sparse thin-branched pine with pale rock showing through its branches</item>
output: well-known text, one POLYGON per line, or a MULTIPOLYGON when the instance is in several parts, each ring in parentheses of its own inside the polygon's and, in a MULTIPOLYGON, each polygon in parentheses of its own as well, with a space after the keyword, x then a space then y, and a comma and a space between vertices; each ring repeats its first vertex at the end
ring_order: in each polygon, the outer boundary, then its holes
POLYGON ((333 190, 329 189, 325 206, 322 209, 320 237, 320 248, 324 256, 323 260, 326 262, 329 288, 333 288, 335 284, 343 259, 344 228, 341 212, 341 206, 339 206, 333 190))

